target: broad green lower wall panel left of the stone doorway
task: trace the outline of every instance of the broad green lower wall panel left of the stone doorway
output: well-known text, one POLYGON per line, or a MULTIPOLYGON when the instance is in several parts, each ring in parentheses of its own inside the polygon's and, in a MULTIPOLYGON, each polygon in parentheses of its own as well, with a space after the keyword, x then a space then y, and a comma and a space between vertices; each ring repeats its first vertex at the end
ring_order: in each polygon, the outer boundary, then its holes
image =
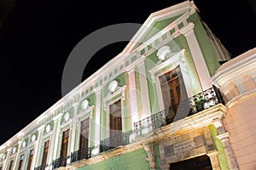
POLYGON ((124 155, 114 156, 113 158, 93 165, 79 167, 78 170, 149 170, 149 163, 145 160, 146 157, 146 151, 140 149, 124 155))

